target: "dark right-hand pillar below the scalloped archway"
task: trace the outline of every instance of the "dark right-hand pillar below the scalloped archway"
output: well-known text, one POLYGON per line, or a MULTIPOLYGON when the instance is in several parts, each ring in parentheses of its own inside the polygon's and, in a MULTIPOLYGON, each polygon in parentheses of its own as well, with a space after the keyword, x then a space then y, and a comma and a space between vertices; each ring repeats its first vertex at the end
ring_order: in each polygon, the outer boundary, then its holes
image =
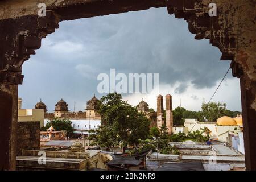
POLYGON ((240 78, 246 170, 256 170, 256 81, 240 78))

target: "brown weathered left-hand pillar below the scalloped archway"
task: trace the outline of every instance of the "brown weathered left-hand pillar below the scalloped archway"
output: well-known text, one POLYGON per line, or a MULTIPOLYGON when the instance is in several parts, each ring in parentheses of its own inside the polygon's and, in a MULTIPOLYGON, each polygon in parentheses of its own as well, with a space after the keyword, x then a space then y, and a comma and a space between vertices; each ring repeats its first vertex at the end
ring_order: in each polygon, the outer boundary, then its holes
POLYGON ((0 170, 15 170, 18 85, 0 84, 0 170))

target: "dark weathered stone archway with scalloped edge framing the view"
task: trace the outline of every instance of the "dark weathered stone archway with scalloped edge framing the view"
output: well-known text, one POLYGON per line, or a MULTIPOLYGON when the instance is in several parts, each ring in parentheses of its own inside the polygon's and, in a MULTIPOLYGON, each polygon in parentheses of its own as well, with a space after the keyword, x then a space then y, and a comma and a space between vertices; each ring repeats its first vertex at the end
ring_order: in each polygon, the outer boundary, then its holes
MULTIPOLYGON (((232 60, 233 76, 241 80, 246 168, 256 170, 256 36, 255 0, 216 0, 217 16, 208 15, 210 0, 42 0, 0 2, 0 168, 15 169, 18 85, 22 64, 40 48, 41 39, 63 20, 167 7, 183 18, 195 39, 209 39, 232 60), (38 3, 45 3, 45 17, 38 3)), ((171 48, 170 48, 171 49, 171 48)))

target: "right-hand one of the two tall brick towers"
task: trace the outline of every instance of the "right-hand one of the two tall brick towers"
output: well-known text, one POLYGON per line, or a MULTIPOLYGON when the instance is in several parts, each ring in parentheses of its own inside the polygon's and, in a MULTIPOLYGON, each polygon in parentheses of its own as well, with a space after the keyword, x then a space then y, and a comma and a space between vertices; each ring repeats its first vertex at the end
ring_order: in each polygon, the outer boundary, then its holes
POLYGON ((168 129, 168 134, 172 134, 172 127, 174 125, 174 119, 172 115, 172 96, 170 94, 166 95, 166 127, 168 129))

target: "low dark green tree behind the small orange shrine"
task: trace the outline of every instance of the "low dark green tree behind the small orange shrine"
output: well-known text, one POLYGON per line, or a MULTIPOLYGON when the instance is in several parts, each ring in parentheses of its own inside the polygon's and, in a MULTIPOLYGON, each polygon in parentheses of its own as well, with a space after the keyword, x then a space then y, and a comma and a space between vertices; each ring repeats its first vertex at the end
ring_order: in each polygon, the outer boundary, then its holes
POLYGON ((65 130, 68 135, 73 134, 72 122, 69 119, 53 118, 47 121, 46 126, 41 131, 46 131, 49 127, 54 127, 56 131, 65 130))

